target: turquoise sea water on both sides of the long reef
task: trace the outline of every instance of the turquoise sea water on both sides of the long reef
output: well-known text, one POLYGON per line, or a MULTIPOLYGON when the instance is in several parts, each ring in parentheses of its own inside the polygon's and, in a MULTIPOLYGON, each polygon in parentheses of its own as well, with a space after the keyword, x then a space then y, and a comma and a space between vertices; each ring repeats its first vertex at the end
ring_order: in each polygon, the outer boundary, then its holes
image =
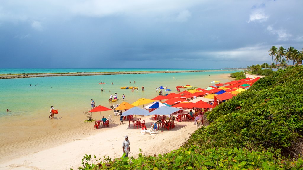
MULTIPOLYGON (((9 73, 64 73, 64 72, 103 72, 116 69, 0 69, 0 74, 9 73), (72 71, 73 70, 73 71, 72 71)), ((118 71, 151 71, 153 69, 118 69, 118 71)), ((154 69, 172 70, 172 69, 154 69)), ((174 69, 176 70, 176 69, 174 69)), ((178 69, 186 70, 186 69, 178 69)), ((190 84, 194 87, 206 88, 213 85, 211 81, 227 82, 232 80, 228 75, 235 70, 191 73, 163 73, 163 74, 120 74, 96 76, 64 76, 64 77, 35 77, 0 79, 0 117, 13 118, 47 117, 50 106, 59 110, 61 115, 75 116, 90 108, 91 99, 96 106, 109 107, 111 104, 125 101, 133 103, 139 98, 152 99, 157 96, 156 87, 164 86, 176 92, 176 86, 190 84), (172 78, 175 77, 175 78, 172 78), (131 83, 129 83, 131 81, 131 83), (136 83, 134 83, 136 81, 136 83), (106 84, 98 84, 105 82, 106 84), (111 84, 113 82, 113 85, 111 84), (32 86, 30 86, 30 84, 32 86), (121 89, 125 86, 138 86, 139 90, 131 92, 121 89), (145 91, 141 87, 145 87, 145 91), (105 90, 101 92, 101 87, 105 90), (117 102, 109 102, 111 94, 118 94, 117 102), (11 112, 6 112, 6 109, 11 112)))

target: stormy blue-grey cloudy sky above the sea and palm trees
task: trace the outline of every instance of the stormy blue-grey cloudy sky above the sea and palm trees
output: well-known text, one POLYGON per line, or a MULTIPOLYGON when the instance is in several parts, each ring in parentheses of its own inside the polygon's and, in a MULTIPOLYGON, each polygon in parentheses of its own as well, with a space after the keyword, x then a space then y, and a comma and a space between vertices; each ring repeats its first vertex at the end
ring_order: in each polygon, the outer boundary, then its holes
POLYGON ((0 68, 217 69, 302 51, 302 0, 0 0, 0 68))

